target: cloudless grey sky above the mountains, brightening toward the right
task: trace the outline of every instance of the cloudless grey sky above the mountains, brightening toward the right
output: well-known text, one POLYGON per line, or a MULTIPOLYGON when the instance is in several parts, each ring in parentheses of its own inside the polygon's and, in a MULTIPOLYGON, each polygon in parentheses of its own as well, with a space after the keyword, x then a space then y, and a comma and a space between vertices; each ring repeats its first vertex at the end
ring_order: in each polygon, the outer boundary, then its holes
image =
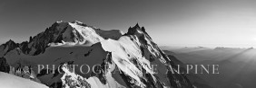
POLYGON ((256 47, 253 0, 1 0, 0 43, 17 42, 56 21, 124 32, 137 22, 159 45, 256 47))

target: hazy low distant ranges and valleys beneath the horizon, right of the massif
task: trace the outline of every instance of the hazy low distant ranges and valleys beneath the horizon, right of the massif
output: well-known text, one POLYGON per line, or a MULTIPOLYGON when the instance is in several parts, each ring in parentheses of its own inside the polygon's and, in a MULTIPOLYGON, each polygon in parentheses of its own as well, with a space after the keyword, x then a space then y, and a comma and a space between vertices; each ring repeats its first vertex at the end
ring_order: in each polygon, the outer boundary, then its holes
POLYGON ((167 55, 184 64, 219 65, 219 75, 187 75, 191 83, 202 88, 254 88, 256 84, 255 48, 167 48, 167 55), (172 53, 170 53, 172 51, 172 53), (205 84, 208 87, 205 87, 205 84))

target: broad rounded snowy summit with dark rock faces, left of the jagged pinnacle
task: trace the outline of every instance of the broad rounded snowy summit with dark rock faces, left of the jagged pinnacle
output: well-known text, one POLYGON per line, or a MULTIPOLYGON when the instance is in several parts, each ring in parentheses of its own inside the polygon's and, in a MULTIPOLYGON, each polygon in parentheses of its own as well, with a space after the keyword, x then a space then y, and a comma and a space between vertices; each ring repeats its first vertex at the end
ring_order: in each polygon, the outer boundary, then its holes
POLYGON ((105 39, 118 40, 122 35, 123 33, 118 30, 103 31, 78 21, 54 22, 45 31, 30 37, 29 41, 24 41, 20 45, 16 44, 13 40, 9 40, 10 44, 4 45, 12 46, 6 49, 5 46, 2 46, 0 49, 5 49, 5 52, 0 52, 0 57, 14 48, 21 48, 23 53, 28 55, 38 55, 44 53, 45 48, 50 46, 91 46, 105 39))

